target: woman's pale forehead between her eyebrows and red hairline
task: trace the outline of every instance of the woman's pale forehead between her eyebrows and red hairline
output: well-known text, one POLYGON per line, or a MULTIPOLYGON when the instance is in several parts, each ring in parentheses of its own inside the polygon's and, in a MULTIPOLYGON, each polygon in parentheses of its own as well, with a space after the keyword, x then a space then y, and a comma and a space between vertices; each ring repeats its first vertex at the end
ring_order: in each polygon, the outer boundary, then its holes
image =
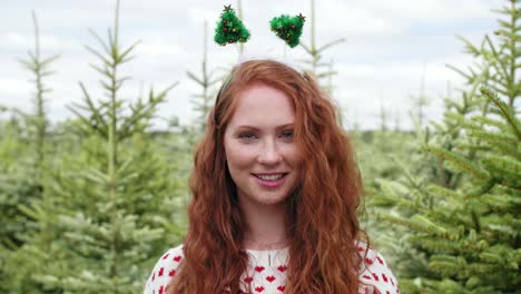
POLYGON ((264 84, 254 84, 239 92, 228 125, 276 127, 294 122, 294 107, 285 92, 264 84))

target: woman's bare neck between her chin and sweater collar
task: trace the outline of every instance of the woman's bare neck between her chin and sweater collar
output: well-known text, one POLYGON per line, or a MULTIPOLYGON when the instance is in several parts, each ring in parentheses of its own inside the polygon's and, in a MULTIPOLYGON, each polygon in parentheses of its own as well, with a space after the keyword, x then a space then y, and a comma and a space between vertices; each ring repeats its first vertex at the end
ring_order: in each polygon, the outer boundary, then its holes
POLYGON ((286 205, 263 206, 239 200, 247 229, 244 233, 246 249, 279 249, 287 246, 286 205))

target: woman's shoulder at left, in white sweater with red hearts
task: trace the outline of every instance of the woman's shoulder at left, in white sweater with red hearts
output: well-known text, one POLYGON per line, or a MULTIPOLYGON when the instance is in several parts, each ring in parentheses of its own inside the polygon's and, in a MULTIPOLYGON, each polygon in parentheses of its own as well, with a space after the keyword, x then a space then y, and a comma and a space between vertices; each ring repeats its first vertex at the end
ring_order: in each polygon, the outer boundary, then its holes
POLYGON ((145 284, 144 294, 164 294, 183 259, 183 245, 168 249, 157 261, 145 284))

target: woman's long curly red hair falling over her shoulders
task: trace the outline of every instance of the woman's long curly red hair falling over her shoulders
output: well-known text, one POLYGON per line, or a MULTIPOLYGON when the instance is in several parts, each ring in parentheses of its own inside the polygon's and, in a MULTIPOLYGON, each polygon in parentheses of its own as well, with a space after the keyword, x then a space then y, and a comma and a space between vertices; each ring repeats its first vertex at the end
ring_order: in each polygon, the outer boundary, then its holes
POLYGON ((169 293, 239 293, 248 266, 242 248, 246 224, 223 138, 237 97, 254 82, 282 90, 291 99, 295 141, 305 158, 299 186, 287 199, 291 245, 285 293, 358 293, 362 258, 356 241, 368 239, 356 217, 362 182, 352 145, 316 80, 273 60, 236 66, 212 109, 189 178, 193 200, 185 257, 169 293))

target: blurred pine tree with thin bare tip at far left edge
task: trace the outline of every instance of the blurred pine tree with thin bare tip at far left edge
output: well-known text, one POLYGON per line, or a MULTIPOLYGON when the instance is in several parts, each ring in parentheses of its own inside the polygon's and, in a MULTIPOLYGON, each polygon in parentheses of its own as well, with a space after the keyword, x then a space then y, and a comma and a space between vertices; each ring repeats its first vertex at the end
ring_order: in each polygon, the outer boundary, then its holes
MULTIPOLYGON (((38 224, 38 218, 23 213, 22 207, 36 205, 37 203, 48 203, 49 198, 43 192, 47 170, 52 163, 50 148, 52 144, 50 136, 50 124, 46 115, 46 94, 50 88, 46 85, 45 78, 50 76, 50 65, 58 58, 51 56, 43 58, 40 52, 40 33, 38 20, 32 12, 35 28, 35 48, 29 51, 28 59, 20 59, 20 62, 31 74, 35 79, 33 112, 24 112, 13 109, 13 118, 6 127, 7 137, 2 139, 0 149, 4 153, 1 157, 2 169, 0 170, 0 276, 2 283, 0 292, 11 292, 20 288, 21 281, 16 276, 21 276, 16 271, 22 272, 17 266, 21 251, 30 236, 39 234, 47 241, 42 244, 43 249, 48 248, 50 237, 47 231, 38 224), (7 158, 6 158, 7 157, 7 158), (14 159, 16 158, 16 159, 14 159)), ((30 284, 30 283, 28 283, 30 284)), ((30 288, 26 287, 26 290, 30 288)), ((29 293, 30 291, 20 291, 29 293)))

